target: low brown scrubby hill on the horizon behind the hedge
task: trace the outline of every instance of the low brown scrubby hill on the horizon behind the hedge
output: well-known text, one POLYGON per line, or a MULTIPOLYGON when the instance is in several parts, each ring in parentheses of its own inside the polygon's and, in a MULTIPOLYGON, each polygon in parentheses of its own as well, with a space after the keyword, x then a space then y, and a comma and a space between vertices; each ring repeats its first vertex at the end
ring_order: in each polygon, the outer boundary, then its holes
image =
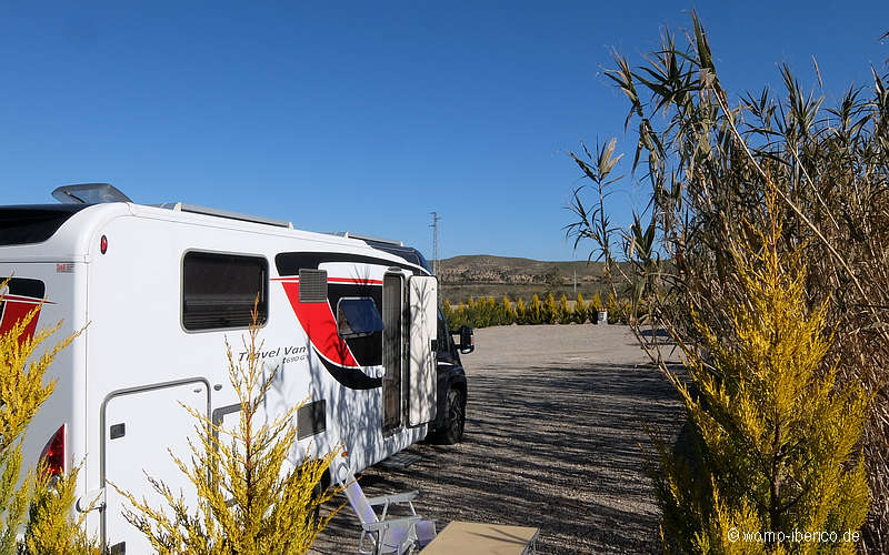
POLYGON ((529 300, 531 295, 553 293, 586 297, 603 293, 602 263, 586 261, 549 262, 531 259, 471 254, 442 259, 438 278, 441 299, 466 302, 470 296, 507 295, 529 300))

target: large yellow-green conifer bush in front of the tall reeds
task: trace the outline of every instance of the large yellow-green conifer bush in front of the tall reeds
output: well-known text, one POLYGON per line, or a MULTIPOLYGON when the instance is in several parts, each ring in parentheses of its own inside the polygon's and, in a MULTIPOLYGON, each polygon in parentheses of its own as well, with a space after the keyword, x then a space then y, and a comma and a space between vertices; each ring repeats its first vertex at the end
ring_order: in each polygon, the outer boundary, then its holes
POLYGON ((806 268, 799 251, 779 255, 779 235, 775 224, 761 250, 735 253, 730 336, 692 311, 702 349, 681 346, 693 390, 668 372, 699 455, 660 444, 668 552, 857 552, 843 535, 858 537, 870 504, 859 445, 870 395, 822 364, 826 306, 807 307, 806 268), (795 531, 833 539, 793 541, 795 531))

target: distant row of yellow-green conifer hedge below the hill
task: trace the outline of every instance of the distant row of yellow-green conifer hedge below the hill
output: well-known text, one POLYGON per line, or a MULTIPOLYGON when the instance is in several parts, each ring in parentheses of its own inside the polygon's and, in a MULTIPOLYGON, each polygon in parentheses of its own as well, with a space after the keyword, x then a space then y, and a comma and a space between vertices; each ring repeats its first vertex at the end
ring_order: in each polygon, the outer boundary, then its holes
POLYGON ((573 306, 568 303, 568 297, 561 295, 557 301, 550 293, 545 301, 538 295, 533 295, 531 301, 526 304, 519 297, 515 303, 508 296, 502 301, 496 301, 492 296, 470 297, 467 304, 452 306, 446 299, 441 305, 441 312, 448 320, 448 326, 456 330, 461 325, 472 327, 487 327, 489 325, 535 325, 535 324, 582 324, 585 322, 597 322, 597 314, 600 309, 608 311, 608 321, 615 324, 627 323, 629 303, 616 301, 609 295, 608 302, 602 304, 599 294, 593 295, 589 303, 583 300, 583 295, 578 293, 573 306))

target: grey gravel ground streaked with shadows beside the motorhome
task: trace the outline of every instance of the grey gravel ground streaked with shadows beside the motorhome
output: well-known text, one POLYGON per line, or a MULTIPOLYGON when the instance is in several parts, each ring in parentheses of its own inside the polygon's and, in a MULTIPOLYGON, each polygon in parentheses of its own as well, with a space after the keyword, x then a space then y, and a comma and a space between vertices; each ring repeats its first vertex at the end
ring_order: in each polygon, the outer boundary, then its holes
MULTIPOLYGON (((657 508, 645 474, 647 423, 673 435, 677 394, 626 326, 543 325, 476 332, 463 356, 466 435, 418 444, 404 471, 368 468, 368 496, 419 490, 414 506, 451 521, 537 526, 541 554, 652 553, 657 508)), ((347 506, 312 554, 356 553, 347 506)))

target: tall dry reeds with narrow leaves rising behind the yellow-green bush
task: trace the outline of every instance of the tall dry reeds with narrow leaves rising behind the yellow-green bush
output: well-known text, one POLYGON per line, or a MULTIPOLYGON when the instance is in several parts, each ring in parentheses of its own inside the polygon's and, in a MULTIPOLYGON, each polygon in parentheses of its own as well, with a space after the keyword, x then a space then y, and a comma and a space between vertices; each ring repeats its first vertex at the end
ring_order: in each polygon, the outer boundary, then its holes
MULTIPOLYGON (((765 199, 776 193, 785 209, 779 252, 805 260, 809 309, 826 303, 827 321, 837 323, 822 366, 839 367, 838 386, 877 394, 861 442, 873 493, 862 549, 889 553, 889 74, 870 65, 870 83, 831 87, 843 92, 828 105, 817 64, 812 90, 782 64, 782 87, 747 83, 750 92, 739 94, 725 88, 722 57, 693 12, 691 23, 687 33, 661 32, 640 65, 616 54, 605 71, 628 100, 626 123, 638 130, 632 169, 648 185, 648 212, 621 233, 633 324, 638 314, 646 326, 701 344, 693 311, 730 337, 727 310, 738 296, 727 273, 737 246, 756 243, 751 226, 768 228, 765 199)), ((617 181, 608 173, 620 158, 611 144, 571 153, 598 194, 585 206, 576 190, 579 221, 569 234, 593 239, 600 255, 615 243, 615 230, 600 223, 602 184, 617 181)))

